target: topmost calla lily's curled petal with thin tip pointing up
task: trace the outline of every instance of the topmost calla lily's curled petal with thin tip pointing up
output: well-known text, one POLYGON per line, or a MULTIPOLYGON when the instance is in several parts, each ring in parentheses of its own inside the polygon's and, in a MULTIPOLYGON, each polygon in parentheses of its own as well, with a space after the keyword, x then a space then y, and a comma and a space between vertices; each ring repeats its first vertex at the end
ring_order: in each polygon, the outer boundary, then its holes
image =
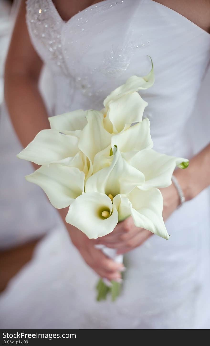
MULTIPOLYGON (((150 58, 151 59, 151 58, 150 58)), ((151 59, 152 62, 152 59, 151 59)), ((113 90, 110 95, 104 100, 103 105, 108 111, 109 104, 116 101, 125 94, 132 93, 134 91, 144 90, 150 88, 154 84, 154 71, 153 63, 150 73, 144 77, 131 76, 125 84, 119 86, 113 90)))

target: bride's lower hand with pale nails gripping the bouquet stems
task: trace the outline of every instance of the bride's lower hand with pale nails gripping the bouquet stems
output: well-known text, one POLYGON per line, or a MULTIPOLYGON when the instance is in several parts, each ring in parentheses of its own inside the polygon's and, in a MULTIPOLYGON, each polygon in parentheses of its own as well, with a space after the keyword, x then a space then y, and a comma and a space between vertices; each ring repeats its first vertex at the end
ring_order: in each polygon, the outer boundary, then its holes
POLYGON ((100 276, 108 280, 121 280, 120 270, 124 267, 123 264, 119 264, 108 258, 103 252, 95 248, 97 239, 89 239, 84 233, 82 233, 76 227, 68 226, 68 231, 72 240, 72 243, 84 261, 100 276))

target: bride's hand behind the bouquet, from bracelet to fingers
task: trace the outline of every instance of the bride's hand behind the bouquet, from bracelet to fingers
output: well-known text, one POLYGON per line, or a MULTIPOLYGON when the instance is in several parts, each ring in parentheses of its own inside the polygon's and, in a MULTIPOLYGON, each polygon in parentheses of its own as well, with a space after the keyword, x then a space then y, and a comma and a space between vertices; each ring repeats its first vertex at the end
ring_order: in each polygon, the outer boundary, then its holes
MULTIPOLYGON (((179 196, 173 184, 160 191, 163 195, 163 219, 166 220, 179 205, 179 196)), ((152 235, 147 229, 136 227, 130 216, 119 222, 112 233, 99 238, 98 244, 116 248, 118 254, 124 254, 143 244, 152 235)))

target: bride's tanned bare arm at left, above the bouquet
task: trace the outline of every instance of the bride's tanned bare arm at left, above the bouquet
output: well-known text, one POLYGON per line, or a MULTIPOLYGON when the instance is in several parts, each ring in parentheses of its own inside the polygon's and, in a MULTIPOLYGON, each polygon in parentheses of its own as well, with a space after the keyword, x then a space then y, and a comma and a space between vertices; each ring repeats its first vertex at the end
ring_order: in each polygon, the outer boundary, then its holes
POLYGON ((5 64, 4 98, 23 147, 40 130, 49 128, 47 110, 38 90, 41 68, 42 61, 30 42, 26 6, 22 1, 5 64))

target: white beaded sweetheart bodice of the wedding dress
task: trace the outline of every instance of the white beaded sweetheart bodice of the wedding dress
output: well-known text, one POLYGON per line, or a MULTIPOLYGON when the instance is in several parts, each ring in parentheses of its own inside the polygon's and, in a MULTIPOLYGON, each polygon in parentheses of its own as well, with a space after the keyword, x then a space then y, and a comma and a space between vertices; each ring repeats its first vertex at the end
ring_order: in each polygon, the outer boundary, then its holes
POLYGON ((27 24, 53 72, 56 114, 101 109, 107 94, 129 76, 149 72, 151 56, 156 81, 142 92, 149 103, 145 116, 159 149, 176 151, 175 139, 187 126, 208 65, 208 33, 151 0, 102 1, 67 22, 52 0, 28 0, 27 24))

